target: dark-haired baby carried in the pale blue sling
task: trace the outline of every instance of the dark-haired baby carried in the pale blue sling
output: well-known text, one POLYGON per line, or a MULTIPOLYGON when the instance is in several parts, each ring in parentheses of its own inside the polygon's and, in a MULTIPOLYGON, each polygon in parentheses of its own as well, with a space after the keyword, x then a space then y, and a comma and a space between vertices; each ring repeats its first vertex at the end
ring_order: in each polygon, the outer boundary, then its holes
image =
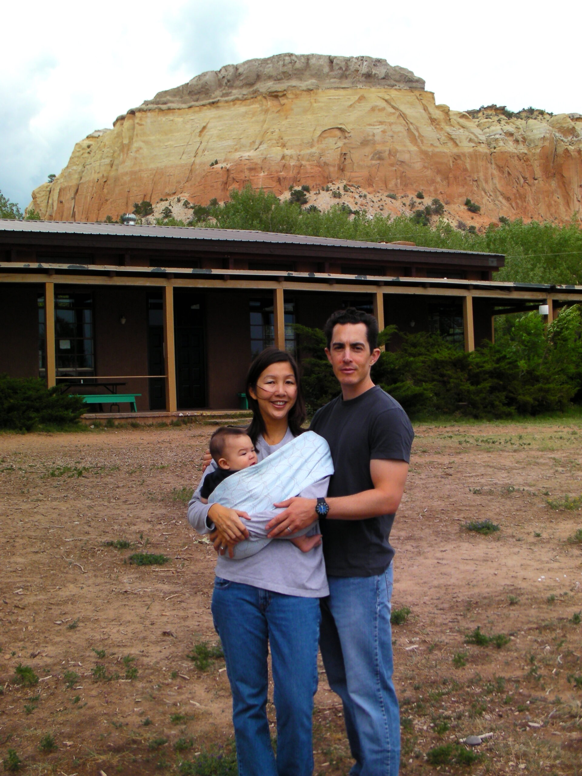
MULTIPOLYGON (((227 476, 240 472, 241 469, 248 469, 249 466, 255 466, 257 462, 257 453, 251 437, 242 428, 231 426, 221 426, 217 431, 214 431, 210 438, 210 455, 216 462, 218 469, 207 474, 204 478, 200 489, 200 501, 203 504, 208 504, 210 494, 223 480, 226 480, 227 476)), ((302 553, 308 553, 310 549, 314 549, 321 542, 319 534, 314 536, 294 536, 291 534, 277 536, 276 539, 289 539, 302 553)), ((253 536, 248 541, 265 543, 264 539, 255 539, 253 536)), ((242 543, 240 542, 240 544, 242 543)))

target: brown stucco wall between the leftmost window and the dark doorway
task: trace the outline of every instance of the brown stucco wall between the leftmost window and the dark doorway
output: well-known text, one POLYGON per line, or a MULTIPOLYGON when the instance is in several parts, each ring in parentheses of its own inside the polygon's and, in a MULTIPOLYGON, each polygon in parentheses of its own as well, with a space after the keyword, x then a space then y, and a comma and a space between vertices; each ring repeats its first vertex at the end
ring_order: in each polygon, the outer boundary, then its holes
MULTIPOLYGON (((102 288, 93 291, 95 305, 95 366, 97 376, 147 375, 147 308, 145 289, 102 288), (120 317, 126 323, 120 324, 120 317)), ((150 408, 147 379, 121 379, 119 393, 141 393, 137 411, 150 408)), ((105 393, 105 390, 103 390, 105 393)), ((103 405, 109 412, 109 405, 103 405)), ((121 412, 130 411, 120 404, 121 412)))

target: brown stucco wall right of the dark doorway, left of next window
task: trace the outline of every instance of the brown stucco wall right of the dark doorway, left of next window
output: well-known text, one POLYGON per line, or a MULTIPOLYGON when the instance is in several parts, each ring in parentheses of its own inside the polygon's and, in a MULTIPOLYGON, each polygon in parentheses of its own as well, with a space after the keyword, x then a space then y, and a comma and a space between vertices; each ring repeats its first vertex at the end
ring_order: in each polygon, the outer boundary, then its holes
POLYGON ((209 291, 206 304, 206 385, 211 409, 238 407, 251 362, 248 292, 209 291))

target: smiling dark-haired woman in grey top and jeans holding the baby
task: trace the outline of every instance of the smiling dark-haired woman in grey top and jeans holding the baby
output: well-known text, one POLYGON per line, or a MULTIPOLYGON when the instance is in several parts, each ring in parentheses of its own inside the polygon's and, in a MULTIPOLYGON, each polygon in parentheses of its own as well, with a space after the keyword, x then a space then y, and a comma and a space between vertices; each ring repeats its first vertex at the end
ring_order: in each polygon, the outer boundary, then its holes
MULTIPOLYGON (((293 358, 276 348, 260 353, 248 371, 247 396, 253 411, 248 435, 261 461, 299 435, 306 417, 293 358)), ((328 480, 301 495, 325 496, 328 480)), ((200 486, 188 508, 196 531, 213 532, 217 547, 245 539, 247 515, 220 504, 203 504, 199 490, 200 486)), ((319 599, 328 594, 321 546, 301 553, 291 542, 274 541, 248 558, 219 555, 216 573, 212 613, 233 695, 239 774, 310 776, 319 599), (266 715, 268 646, 275 684, 276 760, 266 715)))

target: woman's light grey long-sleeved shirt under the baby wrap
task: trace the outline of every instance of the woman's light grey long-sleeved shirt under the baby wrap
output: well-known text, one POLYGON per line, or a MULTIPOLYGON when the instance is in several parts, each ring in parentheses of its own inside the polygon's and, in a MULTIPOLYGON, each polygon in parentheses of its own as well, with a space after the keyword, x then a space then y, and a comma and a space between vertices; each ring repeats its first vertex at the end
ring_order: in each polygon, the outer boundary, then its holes
MULTIPOLYGON (((267 458, 272 452, 278 450, 287 442, 291 442, 293 435, 287 429, 286 435, 278 445, 268 445, 265 439, 258 438, 256 449, 259 461, 267 458)), ((213 530, 213 523, 208 519, 210 504, 203 504, 200 501, 200 487, 206 474, 216 469, 216 464, 212 462, 203 474, 196 492, 188 505, 188 519, 190 525, 199 534, 207 534, 213 530)), ((327 495, 327 486, 329 477, 310 485, 301 492, 306 498, 318 498, 327 495)), ((253 514, 252 532, 254 535, 266 535, 265 525, 279 514, 282 510, 273 509, 268 512, 253 514)), ((313 532, 317 531, 314 525, 313 532)), ((327 578, 325 576, 324 554, 321 546, 314 547, 309 553, 302 553, 299 548, 286 539, 274 539, 260 553, 248 558, 233 560, 227 556, 219 555, 216 567, 217 577, 222 577, 231 582, 241 582, 253 587, 261 587, 263 590, 273 591, 274 593, 283 593, 286 595, 297 595, 301 598, 323 598, 329 595, 327 587, 327 578)))

